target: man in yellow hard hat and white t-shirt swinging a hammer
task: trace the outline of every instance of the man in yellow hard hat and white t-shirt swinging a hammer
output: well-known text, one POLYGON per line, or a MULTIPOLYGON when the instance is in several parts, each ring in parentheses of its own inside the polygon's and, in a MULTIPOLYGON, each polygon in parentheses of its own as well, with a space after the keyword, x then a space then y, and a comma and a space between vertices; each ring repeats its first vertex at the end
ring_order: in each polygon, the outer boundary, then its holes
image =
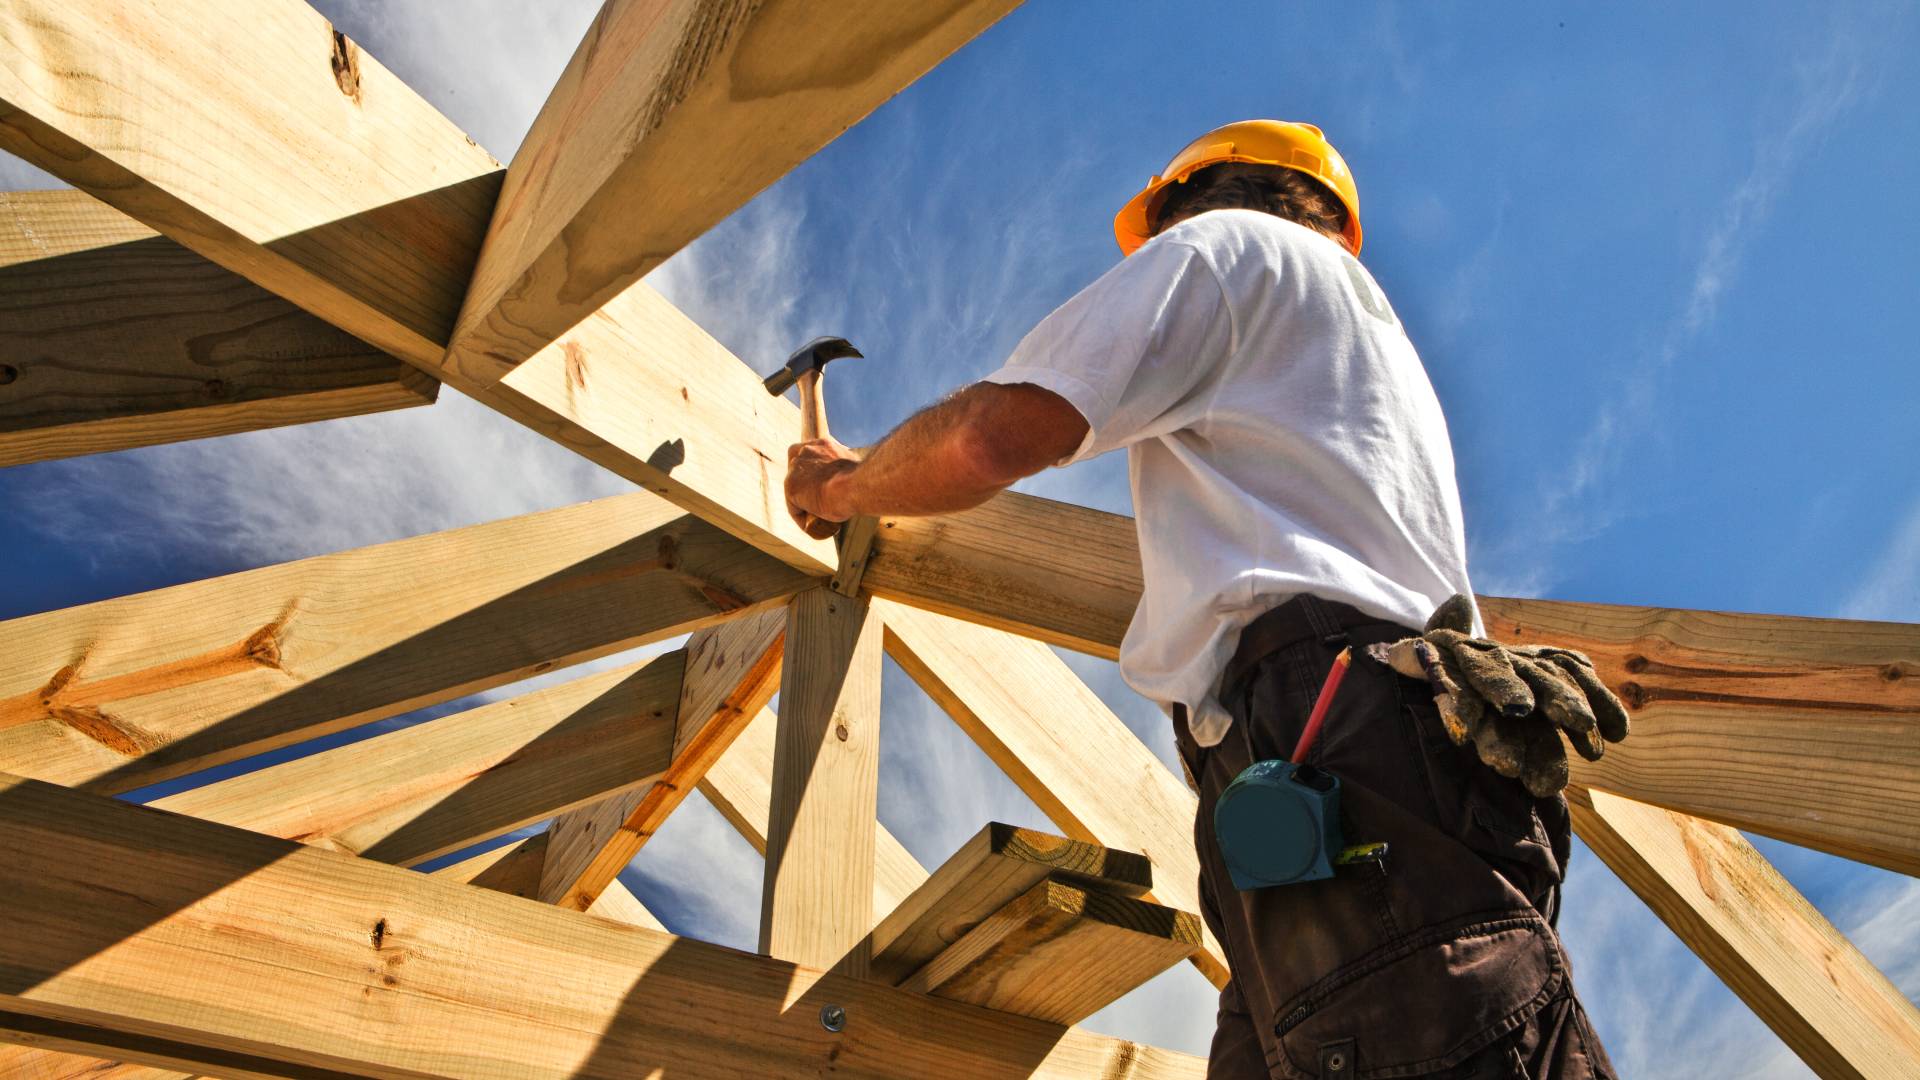
POLYGON ((985 380, 864 454, 793 446, 789 511, 814 536, 950 513, 1125 448, 1144 594, 1119 665, 1173 719, 1233 970, 1208 1074, 1613 1076, 1553 932, 1557 728, 1597 755, 1594 715, 1619 738, 1624 711, 1578 653, 1471 636, 1446 419, 1356 258, 1344 160, 1306 123, 1233 123, 1181 150, 1116 234, 1119 265, 985 380), (1373 855, 1238 890, 1221 790, 1288 755, 1348 646, 1398 663, 1354 661, 1308 763, 1340 778, 1344 836, 1373 855))

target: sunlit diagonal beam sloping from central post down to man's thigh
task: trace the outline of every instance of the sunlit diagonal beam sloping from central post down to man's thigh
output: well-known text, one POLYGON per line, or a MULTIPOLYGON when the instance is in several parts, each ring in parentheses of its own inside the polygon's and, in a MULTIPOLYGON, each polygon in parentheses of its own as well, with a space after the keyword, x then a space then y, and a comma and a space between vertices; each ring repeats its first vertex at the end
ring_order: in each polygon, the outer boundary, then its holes
MULTIPOLYGON (((1062 832, 1140 851, 1154 896, 1200 911, 1194 794, 1046 646, 899 603, 876 601, 887 655, 1062 832)), ((1206 930, 1194 967, 1213 986, 1227 951, 1206 930)))

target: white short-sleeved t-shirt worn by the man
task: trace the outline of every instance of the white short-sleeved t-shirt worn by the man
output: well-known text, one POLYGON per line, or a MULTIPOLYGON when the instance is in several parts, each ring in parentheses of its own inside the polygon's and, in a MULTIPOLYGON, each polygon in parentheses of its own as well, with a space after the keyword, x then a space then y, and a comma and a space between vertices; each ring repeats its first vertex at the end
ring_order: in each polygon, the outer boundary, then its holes
POLYGON ((1215 682, 1256 615, 1311 592, 1407 626, 1467 584, 1446 417, 1380 286, 1338 242, 1254 209, 1167 229, 987 377, 1087 417, 1062 461, 1127 448, 1146 590, 1127 682, 1233 723, 1215 682))

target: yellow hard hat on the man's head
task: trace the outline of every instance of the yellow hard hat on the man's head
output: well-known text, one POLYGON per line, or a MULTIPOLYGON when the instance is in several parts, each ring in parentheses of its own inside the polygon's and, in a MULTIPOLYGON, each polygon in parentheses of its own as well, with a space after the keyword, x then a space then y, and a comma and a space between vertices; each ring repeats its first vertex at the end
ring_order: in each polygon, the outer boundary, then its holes
POLYGON ((1119 240, 1121 254, 1131 256, 1146 242, 1152 229, 1148 211, 1154 209, 1154 204, 1160 202, 1160 194, 1167 186, 1185 184, 1187 177, 1221 161, 1281 165, 1283 169, 1306 173, 1332 188, 1332 194, 1346 204, 1346 246, 1356 256, 1359 254, 1359 188, 1354 186, 1354 173, 1346 169, 1346 160, 1332 148, 1332 142, 1327 142, 1321 129, 1311 123, 1290 123, 1284 119, 1242 119, 1240 123, 1215 127, 1188 142, 1114 217, 1114 238, 1119 240))

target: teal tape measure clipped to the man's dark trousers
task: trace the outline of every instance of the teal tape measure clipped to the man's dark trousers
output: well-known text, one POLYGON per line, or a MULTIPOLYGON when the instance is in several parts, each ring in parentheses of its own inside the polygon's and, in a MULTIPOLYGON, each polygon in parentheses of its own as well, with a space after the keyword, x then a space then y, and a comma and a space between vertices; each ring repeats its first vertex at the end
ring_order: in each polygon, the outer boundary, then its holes
POLYGON ((1213 803, 1213 838, 1236 890, 1317 882, 1340 853, 1340 778, 1256 761, 1213 803))

